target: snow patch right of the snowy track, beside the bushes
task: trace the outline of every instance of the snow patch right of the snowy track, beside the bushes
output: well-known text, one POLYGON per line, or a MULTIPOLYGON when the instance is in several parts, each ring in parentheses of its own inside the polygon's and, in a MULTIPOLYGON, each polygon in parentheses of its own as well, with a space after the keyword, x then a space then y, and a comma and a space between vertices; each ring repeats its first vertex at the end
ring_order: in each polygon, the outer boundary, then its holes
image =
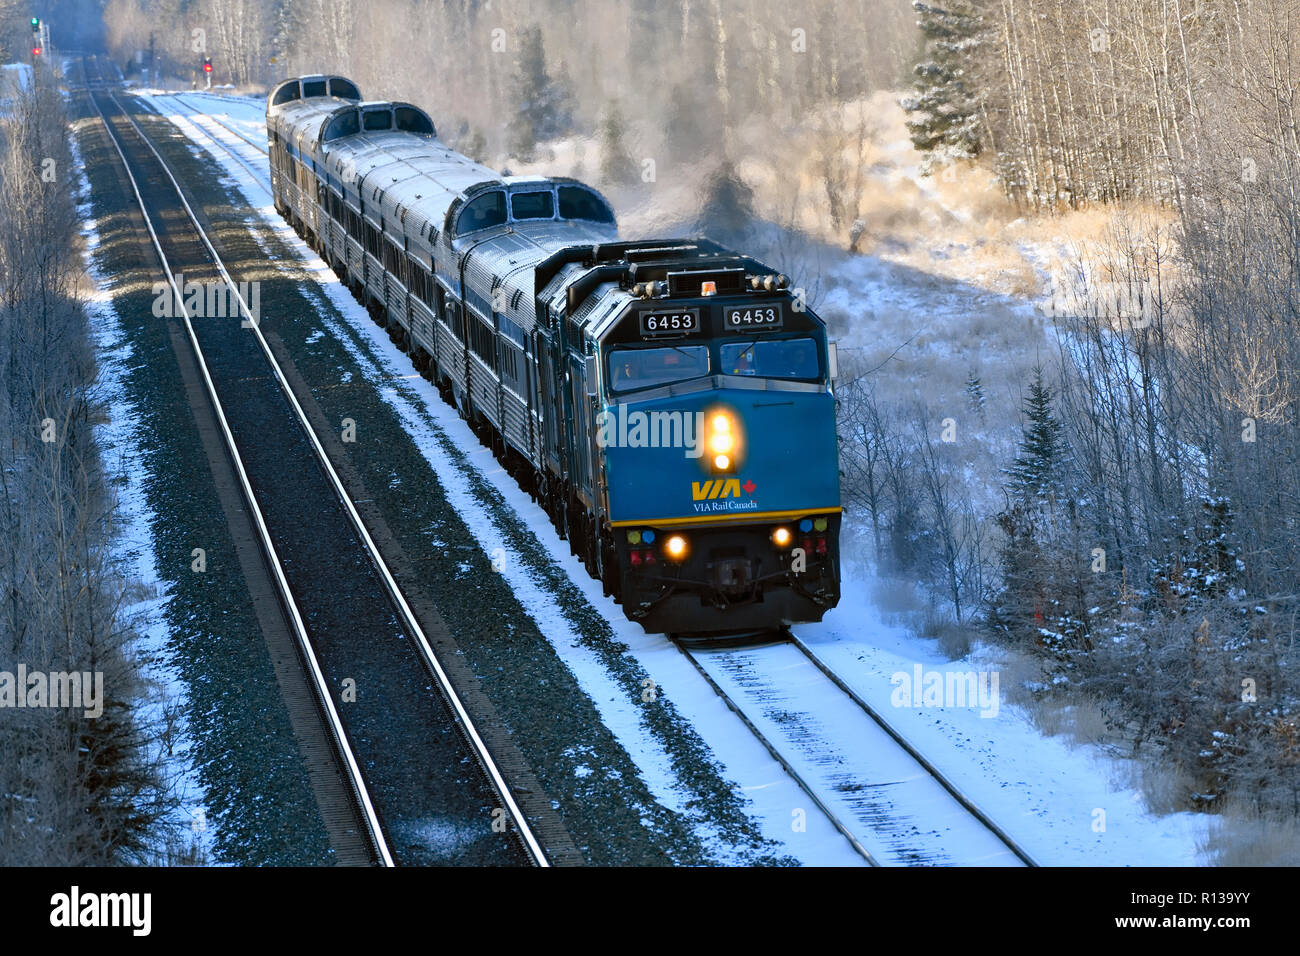
POLYGON ((933 643, 885 623, 868 597, 868 578, 866 568, 846 566, 845 579, 853 585, 846 583, 840 606, 820 624, 800 626, 797 633, 1030 856, 1062 866, 1199 862, 1196 847, 1212 818, 1148 813, 1141 795, 1123 783, 1130 761, 1044 736, 1023 710, 1005 700, 998 700, 994 713, 974 701, 914 706, 914 696, 900 695, 905 684, 897 675, 910 680, 918 665, 923 675, 991 675, 1002 662, 994 648, 948 661, 933 643))

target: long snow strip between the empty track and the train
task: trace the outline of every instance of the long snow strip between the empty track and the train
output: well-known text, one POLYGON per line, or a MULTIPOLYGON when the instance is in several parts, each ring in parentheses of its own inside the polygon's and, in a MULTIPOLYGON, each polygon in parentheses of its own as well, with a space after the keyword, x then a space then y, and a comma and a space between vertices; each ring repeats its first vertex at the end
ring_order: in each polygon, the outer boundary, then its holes
MULTIPOLYGON (((186 99, 196 103, 194 98, 186 99)), ((454 408, 443 403, 437 389, 411 373, 410 358, 389 341, 387 334, 370 321, 333 271, 280 219, 266 198, 264 183, 255 181, 247 169, 213 146, 207 137, 195 130, 191 121, 177 113, 174 107, 168 108, 165 96, 151 96, 150 101, 196 144, 207 147, 209 155, 224 165, 226 173, 248 202, 263 213, 278 238, 295 248, 330 304, 351 323, 351 332, 360 333, 367 339, 369 351, 380 356, 382 364, 376 365, 364 351, 352 345, 348 330, 329 328, 330 323, 325 323, 328 330, 347 345, 368 377, 378 384, 381 394, 402 416, 420 451, 438 476, 448 502, 482 545, 484 551, 488 554, 493 554, 497 549, 504 551, 504 559, 497 563, 510 580, 516 598, 592 698, 602 722, 627 749, 655 800, 688 819, 693 816, 685 804, 688 791, 677 779, 668 753, 642 722, 641 705, 627 697, 597 654, 584 646, 573 633, 554 596, 534 580, 526 562, 510 546, 490 511, 472 490, 467 475, 443 451, 445 444, 451 444, 468 454, 473 470, 507 501, 521 524, 545 544, 545 550, 551 553, 552 559, 564 568, 586 600, 603 611, 614 628, 615 637, 632 648, 633 656, 646 672, 653 675, 659 691, 671 697, 682 717, 712 748, 714 756, 725 769, 727 778, 746 782, 742 791, 751 801, 750 813, 759 822, 763 836, 779 844, 774 852, 788 852, 816 865, 863 865, 862 858, 824 818, 812 814, 807 819, 806 831, 796 832, 792 829, 790 808, 807 804, 807 797, 797 784, 666 637, 646 635, 603 596, 599 584, 586 575, 581 563, 555 537, 546 514, 506 473, 491 453, 480 445, 465 421, 454 408)), ((250 109, 252 108, 260 111, 261 104, 250 104, 250 109)), ((220 109, 231 114, 235 108, 222 101, 220 109)), ((711 831, 707 821, 697 821, 697 829, 705 845, 710 847, 720 860, 733 857, 731 848, 711 831)))

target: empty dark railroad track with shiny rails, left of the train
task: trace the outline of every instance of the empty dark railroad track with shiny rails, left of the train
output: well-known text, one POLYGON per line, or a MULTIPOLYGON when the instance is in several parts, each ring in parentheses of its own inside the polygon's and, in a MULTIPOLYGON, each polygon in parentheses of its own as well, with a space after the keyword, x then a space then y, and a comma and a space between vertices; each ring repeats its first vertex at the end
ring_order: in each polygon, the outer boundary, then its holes
POLYGON ((82 62, 86 95, 122 163, 174 303, 186 298, 183 269, 186 280, 220 284, 238 304, 218 321, 178 304, 178 317, 373 862, 550 865, 177 177, 98 64, 82 62), (264 434, 270 428, 282 429, 274 441, 264 434), (376 702, 346 702, 344 710, 344 679, 368 688, 356 700, 376 702), (511 839, 490 839, 502 830, 511 839))

